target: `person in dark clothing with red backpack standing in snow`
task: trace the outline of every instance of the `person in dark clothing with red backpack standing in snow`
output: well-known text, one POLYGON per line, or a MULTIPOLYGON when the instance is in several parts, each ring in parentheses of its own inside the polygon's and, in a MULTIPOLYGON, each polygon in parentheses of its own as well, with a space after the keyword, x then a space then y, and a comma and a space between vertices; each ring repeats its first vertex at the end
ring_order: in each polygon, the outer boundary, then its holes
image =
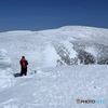
POLYGON ((22 57, 22 59, 19 60, 19 64, 21 64, 21 67, 22 67, 22 70, 21 70, 21 76, 23 75, 27 75, 27 65, 28 65, 28 62, 25 59, 25 56, 22 57))

